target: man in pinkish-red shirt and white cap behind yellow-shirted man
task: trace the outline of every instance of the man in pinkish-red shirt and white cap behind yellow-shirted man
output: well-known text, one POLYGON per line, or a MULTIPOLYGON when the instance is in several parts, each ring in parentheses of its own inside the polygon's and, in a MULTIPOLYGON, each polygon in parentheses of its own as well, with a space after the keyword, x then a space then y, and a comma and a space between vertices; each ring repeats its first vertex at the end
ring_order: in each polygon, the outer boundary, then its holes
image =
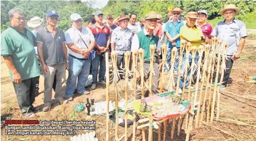
POLYGON ((198 26, 201 28, 203 35, 205 36, 206 44, 211 44, 211 32, 213 31, 213 27, 211 24, 207 23, 207 11, 201 10, 198 11, 198 26))

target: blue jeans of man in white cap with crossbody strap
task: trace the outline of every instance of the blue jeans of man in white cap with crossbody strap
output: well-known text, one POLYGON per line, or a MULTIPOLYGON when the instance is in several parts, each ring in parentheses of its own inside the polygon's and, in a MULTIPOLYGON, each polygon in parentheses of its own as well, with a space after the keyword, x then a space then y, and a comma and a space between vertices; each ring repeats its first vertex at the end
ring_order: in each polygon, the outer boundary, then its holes
POLYGON ((68 56, 68 61, 69 69, 65 94, 66 99, 74 96, 73 93, 75 92, 76 85, 79 94, 85 92, 85 83, 90 73, 90 60, 75 59, 68 56))

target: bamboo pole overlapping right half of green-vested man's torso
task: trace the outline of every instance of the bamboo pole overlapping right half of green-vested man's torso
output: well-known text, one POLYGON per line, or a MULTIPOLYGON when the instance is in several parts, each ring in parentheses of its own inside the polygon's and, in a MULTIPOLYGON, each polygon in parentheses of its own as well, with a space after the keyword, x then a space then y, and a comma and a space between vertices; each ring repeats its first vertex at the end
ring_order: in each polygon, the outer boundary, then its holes
POLYGON ((156 51, 155 45, 149 45, 149 52, 150 52, 150 66, 149 66, 149 95, 152 95, 152 79, 153 79, 153 72, 154 72, 154 53, 156 51))

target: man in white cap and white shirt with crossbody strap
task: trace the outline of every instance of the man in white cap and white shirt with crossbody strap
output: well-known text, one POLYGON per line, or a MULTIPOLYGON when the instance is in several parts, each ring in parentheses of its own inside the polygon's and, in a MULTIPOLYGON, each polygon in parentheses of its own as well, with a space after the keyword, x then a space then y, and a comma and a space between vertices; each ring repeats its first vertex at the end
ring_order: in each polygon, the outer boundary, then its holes
POLYGON ((70 20, 72 27, 65 33, 70 63, 65 94, 68 101, 73 100, 76 85, 78 94, 90 94, 85 90, 85 83, 90 73, 89 54, 95 45, 92 31, 83 27, 80 14, 71 14, 70 20))

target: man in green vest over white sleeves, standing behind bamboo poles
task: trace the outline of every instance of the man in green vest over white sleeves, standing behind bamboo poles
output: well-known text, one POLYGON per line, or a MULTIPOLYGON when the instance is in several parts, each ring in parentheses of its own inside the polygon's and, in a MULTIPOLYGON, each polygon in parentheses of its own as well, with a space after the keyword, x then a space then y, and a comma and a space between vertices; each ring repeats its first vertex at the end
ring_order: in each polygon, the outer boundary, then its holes
MULTIPOLYGON (((144 68, 147 70, 147 76, 149 76, 149 66, 150 66, 150 48, 149 45, 156 44, 156 50, 161 50, 161 42, 159 37, 154 34, 154 29, 156 29, 157 25, 157 14, 156 12, 149 12, 145 19, 145 28, 143 31, 139 31, 132 37, 132 46, 131 51, 134 52, 139 50, 139 48, 144 49, 144 68)), ((153 76, 153 82, 155 85, 152 85, 152 92, 156 94, 156 89, 158 86, 158 76, 159 76, 159 69, 157 67, 157 59, 154 62, 154 72, 155 75, 153 76)), ((137 94, 137 99, 141 99, 141 94, 137 94)))

